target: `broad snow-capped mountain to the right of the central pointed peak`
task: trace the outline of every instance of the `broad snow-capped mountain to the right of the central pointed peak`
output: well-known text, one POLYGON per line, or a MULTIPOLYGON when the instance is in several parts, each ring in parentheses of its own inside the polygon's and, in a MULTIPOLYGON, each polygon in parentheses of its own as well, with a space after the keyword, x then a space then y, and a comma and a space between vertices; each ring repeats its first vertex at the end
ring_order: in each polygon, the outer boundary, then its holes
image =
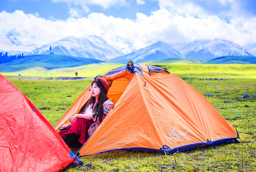
POLYGON ((178 51, 186 59, 195 60, 211 60, 221 56, 252 56, 240 45, 223 39, 194 41, 178 51))

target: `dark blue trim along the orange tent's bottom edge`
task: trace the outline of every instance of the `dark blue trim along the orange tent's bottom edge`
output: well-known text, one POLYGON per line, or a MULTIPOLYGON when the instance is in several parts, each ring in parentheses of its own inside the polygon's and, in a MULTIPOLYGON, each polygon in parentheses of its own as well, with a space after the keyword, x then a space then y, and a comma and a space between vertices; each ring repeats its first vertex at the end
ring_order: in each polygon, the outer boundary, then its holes
MULTIPOLYGON (((206 147, 210 147, 210 146, 214 148, 214 146, 217 146, 217 145, 230 144, 230 143, 240 143, 237 139, 240 139, 240 137, 238 136, 236 138, 220 139, 220 140, 213 141, 211 143, 195 143, 195 144, 191 144, 191 145, 180 146, 180 147, 170 149, 170 150, 160 150, 160 149, 134 147, 134 148, 114 149, 114 150, 104 151, 104 152, 111 152, 111 151, 118 151, 118 150, 128 150, 128 151, 147 152, 147 153, 156 153, 156 154, 165 154, 166 153, 167 155, 169 155, 169 154, 175 153, 177 151, 179 151, 179 152, 181 152, 181 151, 190 151, 190 150, 196 150, 196 149, 206 148, 206 147)), ((104 152, 99 152, 99 153, 104 153, 104 152)), ((93 154, 90 154, 90 155, 99 154, 99 153, 93 153, 93 154)), ((84 156, 89 156, 89 155, 80 156, 79 152, 78 152, 76 154, 76 156, 84 157, 84 156)))

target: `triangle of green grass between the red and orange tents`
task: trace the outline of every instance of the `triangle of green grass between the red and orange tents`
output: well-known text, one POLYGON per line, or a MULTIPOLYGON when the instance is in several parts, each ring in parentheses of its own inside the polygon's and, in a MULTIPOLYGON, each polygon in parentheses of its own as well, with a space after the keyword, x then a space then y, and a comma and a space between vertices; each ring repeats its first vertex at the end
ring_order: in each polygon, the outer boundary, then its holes
POLYGON ((29 98, 53 126, 92 81, 9 80, 29 98))

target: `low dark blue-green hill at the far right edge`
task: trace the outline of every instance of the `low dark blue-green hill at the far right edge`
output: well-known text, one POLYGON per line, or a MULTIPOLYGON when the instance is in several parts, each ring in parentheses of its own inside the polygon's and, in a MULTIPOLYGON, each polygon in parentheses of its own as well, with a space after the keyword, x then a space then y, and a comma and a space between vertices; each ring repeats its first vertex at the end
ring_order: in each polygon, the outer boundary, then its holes
POLYGON ((223 56, 208 60, 203 64, 256 64, 254 56, 223 56))

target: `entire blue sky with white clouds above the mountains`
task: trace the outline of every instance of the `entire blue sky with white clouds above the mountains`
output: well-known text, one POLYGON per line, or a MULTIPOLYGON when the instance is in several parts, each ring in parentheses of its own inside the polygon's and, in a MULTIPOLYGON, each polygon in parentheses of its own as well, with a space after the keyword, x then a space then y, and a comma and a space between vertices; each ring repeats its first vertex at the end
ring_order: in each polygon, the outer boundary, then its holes
POLYGON ((33 48, 101 34, 136 49, 216 38, 244 46, 256 43, 255 7, 255 0, 0 0, 0 38, 33 48))

